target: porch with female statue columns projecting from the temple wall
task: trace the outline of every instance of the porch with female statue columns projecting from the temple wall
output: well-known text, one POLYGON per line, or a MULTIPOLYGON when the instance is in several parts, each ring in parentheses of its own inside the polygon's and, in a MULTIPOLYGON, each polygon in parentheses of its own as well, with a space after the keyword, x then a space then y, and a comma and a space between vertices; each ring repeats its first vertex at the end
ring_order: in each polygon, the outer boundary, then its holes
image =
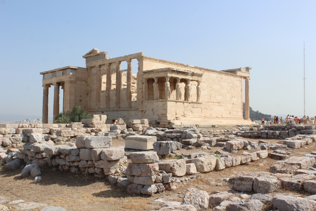
POLYGON ((143 71, 143 104, 146 107, 155 102, 155 107, 163 108, 160 115, 165 117, 170 116, 169 110, 176 109, 177 103, 200 107, 202 76, 203 73, 174 68, 143 71))

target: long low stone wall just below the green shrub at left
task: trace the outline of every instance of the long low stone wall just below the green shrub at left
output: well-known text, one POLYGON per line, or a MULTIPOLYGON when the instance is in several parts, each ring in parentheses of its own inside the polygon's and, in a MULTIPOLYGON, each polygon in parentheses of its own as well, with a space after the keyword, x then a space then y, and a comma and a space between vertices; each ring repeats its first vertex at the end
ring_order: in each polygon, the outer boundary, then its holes
POLYGON ((0 147, 23 147, 25 143, 51 141, 54 144, 70 144, 78 136, 117 137, 127 132, 126 125, 102 124, 87 127, 80 122, 71 124, 0 124, 0 147), (123 127, 123 128, 122 128, 123 127), (31 134, 37 133, 34 137, 31 134))

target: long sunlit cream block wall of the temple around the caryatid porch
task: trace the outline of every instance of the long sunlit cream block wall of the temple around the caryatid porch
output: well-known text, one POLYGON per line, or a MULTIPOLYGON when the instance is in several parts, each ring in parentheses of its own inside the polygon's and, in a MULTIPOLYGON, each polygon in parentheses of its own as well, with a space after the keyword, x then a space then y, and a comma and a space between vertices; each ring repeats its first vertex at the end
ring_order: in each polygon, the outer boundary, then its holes
MULTIPOLYGON (((243 78, 239 75, 220 72, 205 68, 200 68, 191 65, 180 64, 176 62, 149 58, 142 56, 138 59, 139 67, 143 71, 159 69, 159 68, 177 68, 179 70, 194 71, 203 73, 201 87, 200 102, 197 100, 197 82, 191 81, 191 97, 190 101, 177 101, 173 87, 173 78, 170 79, 171 96, 168 102, 164 102, 163 84, 159 86, 160 99, 163 102, 153 100, 152 83, 153 80, 148 80, 148 100, 144 97, 144 102, 139 109, 143 110, 140 118, 148 118, 151 121, 161 120, 162 117, 168 120, 176 120, 176 124, 206 124, 211 122, 216 123, 245 123, 242 116, 242 81, 243 78), (190 119, 191 118, 191 119, 190 119)), ((142 72, 138 72, 138 83, 142 72)), ((158 80, 159 85, 159 80, 158 80)), ((182 85, 182 99, 184 99, 184 82, 182 85)), ((143 92, 143 87, 137 88, 138 92, 143 92)), ((250 123, 250 121, 249 121, 250 123)))

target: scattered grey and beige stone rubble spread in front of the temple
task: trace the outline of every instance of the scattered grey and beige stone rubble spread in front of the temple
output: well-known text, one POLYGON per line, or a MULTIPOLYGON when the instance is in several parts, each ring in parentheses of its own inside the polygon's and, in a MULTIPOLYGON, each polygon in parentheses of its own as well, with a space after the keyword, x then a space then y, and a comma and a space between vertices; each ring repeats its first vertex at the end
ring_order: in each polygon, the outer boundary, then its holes
POLYGON ((232 192, 225 191, 208 195, 203 190, 191 188, 185 194, 182 205, 173 204, 161 210, 207 208, 264 210, 267 205, 279 210, 315 210, 316 196, 301 198, 296 195, 272 194, 281 188, 291 191, 304 190, 310 194, 316 194, 316 152, 305 154, 303 157, 290 157, 294 149, 315 141, 315 126, 240 126, 231 130, 201 131, 196 127, 179 129, 146 127, 144 129, 143 126, 147 126, 146 123, 149 122, 131 120, 128 125, 125 125, 124 122, 118 120, 117 124, 111 125, 106 133, 105 129, 95 127, 99 126, 96 123, 102 123, 98 122, 101 120, 94 120, 83 120, 84 123, 91 124, 65 125, 64 129, 49 128, 50 138, 42 135, 48 134, 44 133, 48 132, 44 125, 43 128, 36 128, 35 125, 32 128, 0 128, 3 135, 1 144, 5 144, 3 146, 17 146, 13 144, 22 142, 13 143, 13 138, 22 137, 22 135, 27 137, 24 138, 26 142, 23 144, 24 149, 11 148, 0 151, 0 163, 6 164, 6 169, 15 170, 25 162, 26 166, 21 172, 23 177, 38 177, 42 172, 41 168, 45 166, 58 166, 60 171, 70 170, 73 173, 92 173, 95 177, 106 177, 110 183, 126 188, 129 193, 153 195, 165 190, 175 190, 179 183, 185 184, 191 178, 200 177, 200 173, 220 171, 269 156, 280 160, 270 166, 270 172, 241 172, 229 178, 223 178, 232 192), (143 123, 143 126, 140 123, 143 123), (258 136, 265 138, 264 131, 267 132, 266 138, 282 138, 283 140, 270 144, 267 140, 259 140, 257 143, 235 137, 235 135, 257 137, 257 134, 261 134, 258 136), (13 136, 16 133, 22 135, 13 136), (64 142, 68 145, 55 145, 58 141, 54 139, 58 136, 69 137, 76 140, 76 143, 64 142), (112 137, 117 136, 125 137, 125 150, 130 152, 124 152, 124 146, 111 147, 112 137), (7 139, 11 142, 9 143, 7 139), (210 149, 211 146, 223 148, 217 150, 215 154, 202 151, 210 149), (180 148, 198 148, 201 151, 179 153, 177 150, 180 148), (239 150, 246 151, 241 156, 233 156, 239 150), (249 153, 247 150, 255 150, 255 152, 249 153), (268 150, 273 150, 273 152, 269 153, 268 150), (177 159, 159 160, 166 157, 177 159), (126 163, 127 158, 131 159, 131 163, 125 167, 123 164, 126 163), (183 177, 185 175, 192 176, 183 177), (256 194, 240 194, 238 197, 234 195, 238 193, 236 191, 256 194))

